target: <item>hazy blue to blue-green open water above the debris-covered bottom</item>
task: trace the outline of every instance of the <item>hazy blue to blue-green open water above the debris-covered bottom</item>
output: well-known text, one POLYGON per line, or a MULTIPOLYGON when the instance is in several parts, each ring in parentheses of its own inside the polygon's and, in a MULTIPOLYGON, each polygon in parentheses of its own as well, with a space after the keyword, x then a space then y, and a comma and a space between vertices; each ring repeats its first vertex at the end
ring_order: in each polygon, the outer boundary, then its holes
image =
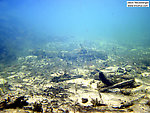
POLYGON ((1 34, 29 42, 72 37, 148 45, 149 12, 128 8, 125 0, 1 0, 1 34))

